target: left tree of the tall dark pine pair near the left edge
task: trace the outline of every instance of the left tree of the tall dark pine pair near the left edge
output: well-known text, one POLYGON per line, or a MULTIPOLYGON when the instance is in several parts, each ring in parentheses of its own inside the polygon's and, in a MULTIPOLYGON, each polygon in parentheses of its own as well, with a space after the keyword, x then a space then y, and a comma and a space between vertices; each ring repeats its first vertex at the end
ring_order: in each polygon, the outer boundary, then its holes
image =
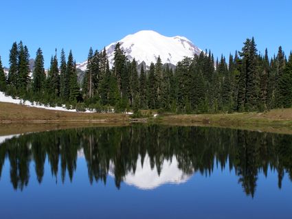
POLYGON ((17 58, 18 58, 18 47, 17 43, 14 42, 12 48, 10 49, 9 55, 9 73, 8 73, 8 84, 11 84, 13 87, 16 87, 17 79, 17 58))

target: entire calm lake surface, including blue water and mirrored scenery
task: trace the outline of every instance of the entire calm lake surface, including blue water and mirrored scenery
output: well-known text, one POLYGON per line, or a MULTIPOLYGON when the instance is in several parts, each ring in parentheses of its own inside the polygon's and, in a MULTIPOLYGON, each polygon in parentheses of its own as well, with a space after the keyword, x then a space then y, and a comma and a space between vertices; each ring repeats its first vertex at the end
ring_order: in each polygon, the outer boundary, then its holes
POLYGON ((0 218, 292 218, 292 136, 158 125, 0 137, 0 218))

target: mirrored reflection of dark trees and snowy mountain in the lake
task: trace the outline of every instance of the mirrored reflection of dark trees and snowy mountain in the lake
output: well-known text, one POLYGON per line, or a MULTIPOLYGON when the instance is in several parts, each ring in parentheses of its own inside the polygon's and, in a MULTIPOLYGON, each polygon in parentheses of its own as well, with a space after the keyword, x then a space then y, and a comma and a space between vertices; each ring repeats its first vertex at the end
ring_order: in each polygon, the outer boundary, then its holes
POLYGON ((5 159, 10 163, 14 189, 29 183, 30 163, 42 183, 45 161, 54 177, 72 181, 77 160, 85 159, 89 182, 111 175, 121 183, 153 189, 164 183, 183 183, 198 172, 211 176, 216 168, 229 168, 247 195, 254 196, 258 174, 278 172, 292 178, 292 136, 223 128, 134 125, 77 128, 21 135, 0 145, 0 177, 5 159), (60 170, 59 170, 60 169, 60 170))

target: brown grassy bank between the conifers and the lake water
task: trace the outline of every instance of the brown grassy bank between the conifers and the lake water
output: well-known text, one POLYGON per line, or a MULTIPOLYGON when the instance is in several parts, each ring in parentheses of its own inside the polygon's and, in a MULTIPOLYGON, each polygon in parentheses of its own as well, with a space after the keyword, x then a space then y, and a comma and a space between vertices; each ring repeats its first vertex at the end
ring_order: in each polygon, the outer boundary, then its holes
POLYGON ((233 128, 292 135, 292 108, 265 113, 176 115, 131 118, 124 113, 76 113, 0 103, 0 136, 31 131, 91 126, 129 126, 135 123, 170 126, 233 128))

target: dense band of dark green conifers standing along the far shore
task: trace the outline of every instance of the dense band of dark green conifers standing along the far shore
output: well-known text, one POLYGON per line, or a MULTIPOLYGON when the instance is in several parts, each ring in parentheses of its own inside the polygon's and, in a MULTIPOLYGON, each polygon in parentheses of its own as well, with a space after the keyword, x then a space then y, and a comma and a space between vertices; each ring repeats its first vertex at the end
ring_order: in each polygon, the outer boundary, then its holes
POLYGON ((160 58, 149 69, 143 65, 137 69, 137 62, 126 58, 120 43, 115 46, 110 69, 105 49, 90 49, 81 86, 71 51, 67 60, 61 51, 60 65, 55 54, 46 74, 38 49, 32 78, 28 60, 27 47, 14 43, 8 77, 0 65, 0 89, 51 106, 172 113, 267 111, 292 106, 292 55, 287 60, 282 47, 273 58, 267 49, 260 54, 254 38, 247 39, 241 51, 230 54, 228 62, 224 56, 215 61, 211 51, 202 51, 181 60, 175 70, 163 65, 160 58))

